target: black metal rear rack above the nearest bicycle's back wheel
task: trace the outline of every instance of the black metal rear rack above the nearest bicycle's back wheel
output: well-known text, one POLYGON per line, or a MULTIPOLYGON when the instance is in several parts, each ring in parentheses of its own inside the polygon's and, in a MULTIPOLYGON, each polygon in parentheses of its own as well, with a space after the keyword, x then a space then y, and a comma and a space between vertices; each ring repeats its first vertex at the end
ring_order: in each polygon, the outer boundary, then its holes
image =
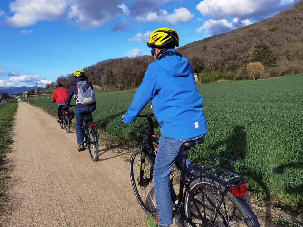
POLYGON ((229 186, 239 186, 248 183, 247 178, 210 163, 196 162, 194 169, 196 169, 202 175, 209 176, 213 179, 218 179, 218 181, 221 183, 229 186))

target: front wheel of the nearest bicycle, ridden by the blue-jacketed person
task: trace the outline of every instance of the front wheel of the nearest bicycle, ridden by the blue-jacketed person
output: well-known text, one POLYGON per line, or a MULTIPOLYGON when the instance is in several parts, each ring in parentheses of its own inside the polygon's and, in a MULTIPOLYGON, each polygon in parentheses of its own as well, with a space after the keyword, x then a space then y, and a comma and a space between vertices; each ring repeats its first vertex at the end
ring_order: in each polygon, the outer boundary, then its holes
MULTIPOLYGON (((155 188, 153 186, 154 185, 153 180, 151 180, 151 182, 148 184, 148 186, 142 187, 142 186, 138 185, 137 179, 136 179, 136 178, 138 178, 138 176, 140 176, 141 153, 142 153, 141 149, 136 149, 133 151, 133 153, 131 155, 131 160, 129 163, 129 171, 130 171, 130 176, 131 176, 132 187, 134 189, 135 196, 136 196, 140 206, 142 207, 142 209, 148 214, 149 213, 155 214, 157 212, 157 206, 156 206, 156 200, 155 200, 155 188), (135 166, 136 166, 136 168, 134 169, 135 166), (136 175, 135 175, 135 172, 136 172, 136 175), (139 188, 137 186, 139 186, 139 188), (141 196, 139 193, 139 190, 141 190, 142 192, 148 191, 148 194, 145 193, 146 196, 141 196), (148 195, 149 195, 149 197, 148 197, 148 195), (145 198, 142 198, 142 197, 145 197, 145 198), (143 202, 143 201, 145 201, 145 202, 143 202)), ((151 178, 151 175, 152 175, 153 169, 154 169, 154 165, 155 165, 154 164, 155 161, 151 160, 151 159, 152 158, 150 156, 148 156, 148 155, 145 156, 144 169, 146 168, 146 170, 147 170, 147 172, 145 171, 145 175, 146 175, 146 173, 149 172, 149 176, 148 176, 148 178, 146 178, 148 180, 151 178), (150 166, 149 171, 148 171, 148 166, 150 166)))

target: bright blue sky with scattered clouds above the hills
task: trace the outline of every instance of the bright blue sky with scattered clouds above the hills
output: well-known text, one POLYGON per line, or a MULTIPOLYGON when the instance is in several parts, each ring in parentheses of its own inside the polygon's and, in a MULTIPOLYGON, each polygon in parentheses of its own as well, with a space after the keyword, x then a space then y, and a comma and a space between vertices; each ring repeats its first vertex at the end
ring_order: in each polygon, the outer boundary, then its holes
POLYGON ((149 54, 175 29, 180 45, 228 32, 298 0, 1 0, 0 86, 44 86, 107 58, 149 54))

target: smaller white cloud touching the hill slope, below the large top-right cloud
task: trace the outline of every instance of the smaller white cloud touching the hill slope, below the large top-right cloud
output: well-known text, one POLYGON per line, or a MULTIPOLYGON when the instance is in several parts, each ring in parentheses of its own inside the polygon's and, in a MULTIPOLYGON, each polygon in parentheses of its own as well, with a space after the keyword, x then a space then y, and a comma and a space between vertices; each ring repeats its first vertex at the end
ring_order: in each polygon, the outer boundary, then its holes
POLYGON ((218 21, 210 19, 205 21, 202 27, 195 30, 198 32, 198 34, 201 34, 202 31, 204 31, 207 35, 212 36, 229 32, 250 24, 251 22, 249 20, 240 21, 238 18, 234 18, 231 23, 228 23, 226 19, 218 21))

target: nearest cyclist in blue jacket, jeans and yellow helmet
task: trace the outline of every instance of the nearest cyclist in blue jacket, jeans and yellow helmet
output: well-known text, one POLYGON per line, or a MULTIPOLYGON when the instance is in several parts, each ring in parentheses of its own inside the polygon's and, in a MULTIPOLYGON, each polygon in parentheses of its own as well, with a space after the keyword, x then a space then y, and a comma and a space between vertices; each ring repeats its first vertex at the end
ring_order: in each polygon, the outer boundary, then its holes
MULTIPOLYGON (((193 69, 188 59, 175 50, 179 47, 178 33, 171 28, 159 28, 149 36, 148 47, 156 61, 148 66, 122 120, 125 124, 133 123, 152 100, 153 112, 161 126, 153 173, 158 216, 149 214, 147 225, 159 227, 173 223, 169 173, 176 160, 182 163, 182 144, 204 137, 207 127, 193 69)), ((187 171, 192 173, 189 159, 186 164, 187 171)))

